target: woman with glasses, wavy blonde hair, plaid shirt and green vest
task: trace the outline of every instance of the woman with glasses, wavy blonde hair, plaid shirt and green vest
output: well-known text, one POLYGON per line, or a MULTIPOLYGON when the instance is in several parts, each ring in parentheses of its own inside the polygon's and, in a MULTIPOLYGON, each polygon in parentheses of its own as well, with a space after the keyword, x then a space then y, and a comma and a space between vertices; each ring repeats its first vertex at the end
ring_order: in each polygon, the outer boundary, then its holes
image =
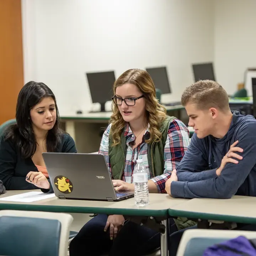
MULTIPOLYGON (((150 75, 140 69, 124 72, 114 83, 113 114, 103 134, 99 153, 108 163, 118 191, 134 190, 133 170, 143 159, 150 193, 165 193, 165 181, 181 161, 189 143, 188 129, 166 116, 156 99, 150 75)), ((170 233, 194 225, 170 219, 170 233)), ((70 256, 144 255, 160 246, 160 233, 140 226, 122 215, 98 214, 71 241, 70 256)))

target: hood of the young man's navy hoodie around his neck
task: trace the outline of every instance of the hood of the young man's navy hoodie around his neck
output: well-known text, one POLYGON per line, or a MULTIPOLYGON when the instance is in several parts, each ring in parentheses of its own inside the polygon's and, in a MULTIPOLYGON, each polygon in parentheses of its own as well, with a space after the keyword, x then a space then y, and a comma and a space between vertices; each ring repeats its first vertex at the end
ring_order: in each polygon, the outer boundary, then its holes
POLYGON ((246 122, 250 121, 251 119, 255 120, 255 118, 251 115, 243 116, 242 114, 240 114, 239 111, 233 111, 233 110, 231 112, 233 114, 233 117, 232 117, 232 121, 231 121, 229 130, 226 133, 226 135, 221 139, 217 139, 217 138, 213 137, 212 135, 210 135, 210 139, 214 143, 218 143, 218 144, 225 143, 226 141, 228 141, 232 138, 232 136, 234 135, 234 131, 239 126, 243 126, 246 122))

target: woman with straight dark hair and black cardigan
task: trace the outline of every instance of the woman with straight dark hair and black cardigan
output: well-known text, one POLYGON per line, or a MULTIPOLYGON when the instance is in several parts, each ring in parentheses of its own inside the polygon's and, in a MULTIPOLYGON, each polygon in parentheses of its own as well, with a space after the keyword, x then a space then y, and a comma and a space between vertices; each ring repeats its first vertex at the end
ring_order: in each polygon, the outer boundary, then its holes
POLYGON ((30 81, 22 87, 16 121, 0 139, 0 180, 6 190, 52 191, 42 153, 77 150, 70 135, 59 128, 56 99, 47 85, 30 81))

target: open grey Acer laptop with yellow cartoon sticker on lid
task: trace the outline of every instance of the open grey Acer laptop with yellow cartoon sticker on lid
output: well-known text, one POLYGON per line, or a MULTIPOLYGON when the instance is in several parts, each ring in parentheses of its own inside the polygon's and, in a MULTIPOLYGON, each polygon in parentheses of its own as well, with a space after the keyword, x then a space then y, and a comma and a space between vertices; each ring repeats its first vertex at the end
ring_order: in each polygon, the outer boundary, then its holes
POLYGON ((55 196, 61 199, 120 201, 133 193, 114 190, 101 154, 42 153, 55 196))

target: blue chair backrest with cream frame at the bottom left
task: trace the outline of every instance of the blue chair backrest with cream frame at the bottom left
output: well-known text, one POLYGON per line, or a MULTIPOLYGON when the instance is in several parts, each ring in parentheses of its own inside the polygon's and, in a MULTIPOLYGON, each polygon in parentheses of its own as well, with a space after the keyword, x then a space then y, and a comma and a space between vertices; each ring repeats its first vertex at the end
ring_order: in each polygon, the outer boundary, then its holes
POLYGON ((66 256, 73 217, 66 213, 0 211, 0 255, 66 256))

